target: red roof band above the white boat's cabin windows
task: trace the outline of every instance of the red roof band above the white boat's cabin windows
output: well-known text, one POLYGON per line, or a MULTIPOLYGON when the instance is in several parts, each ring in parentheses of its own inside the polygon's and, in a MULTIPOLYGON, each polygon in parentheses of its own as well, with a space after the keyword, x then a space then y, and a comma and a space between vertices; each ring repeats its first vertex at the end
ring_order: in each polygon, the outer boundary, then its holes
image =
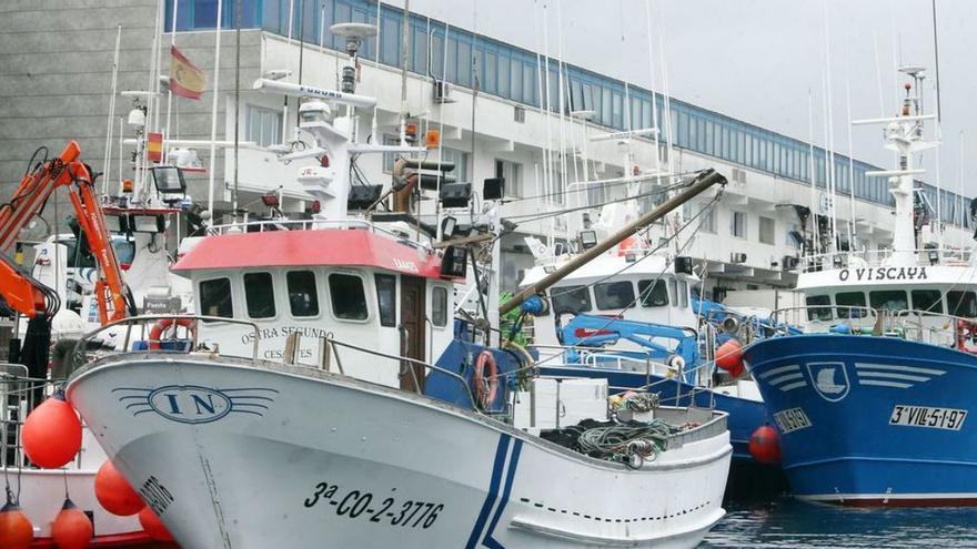
POLYGON ((266 231, 208 236, 174 272, 246 267, 376 267, 441 278, 441 257, 370 231, 266 231))

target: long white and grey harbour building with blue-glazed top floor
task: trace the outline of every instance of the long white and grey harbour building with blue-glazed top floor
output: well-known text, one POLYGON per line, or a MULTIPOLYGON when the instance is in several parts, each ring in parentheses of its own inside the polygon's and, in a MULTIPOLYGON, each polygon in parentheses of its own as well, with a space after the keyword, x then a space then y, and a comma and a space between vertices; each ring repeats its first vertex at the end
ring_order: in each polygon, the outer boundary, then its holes
MULTIPOLYGON (((240 148, 236 187, 239 206, 260 211, 258 199, 269 192, 281 193, 283 209, 301 214, 310 199, 294 181, 295 166, 275 160, 269 146, 291 136, 294 100, 288 106, 281 96, 251 90, 261 74, 289 71, 289 82, 321 88, 339 88, 339 67, 345 62, 344 42, 329 32, 335 22, 377 22, 376 3, 365 0, 242 0, 240 90, 235 93, 235 33, 222 35, 219 89, 218 139, 232 140, 235 96, 241 105, 241 141, 254 146, 240 148), (292 31, 289 32, 291 21, 292 31), (301 79, 301 80, 300 80, 301 79), (286 111, 288 109, 288 111, 286 111)), ((233 27, 235 1, 224 1, 222 27, 233 27)), ((173 1, 164 4, 165 28, 172 23, 173 1)), ((117 24, 122 24, 122 57, 119 90, 147 89, 152 59, 153 21, 159 4, 153 0, 118 0, 118 4, 88 0, 11 0, 0 20, 2 62, 0 62, 0 181, 9 195, 27 159, 39 145, 51 153, 68 139, 77 139, 95 170, 101 171, 105 150, 109 85, 117 24), (29 29, 29 30, 19 30, 29 29), (62 30, 70 29, 70 30, 62 30), (52 40, 52 34, 57 40, 52 40)), ((208 92, 201 101, 174 100, 170 135, 173 139, 210 139, 210 109, 213 89, 214 0, 179 0, 177 37, 180 50, 208 73, 208 92)), ((377 109, 360 113, 359 132, 365 136, 375 125, 376 140, 396 141, 401 110, 402 35, 404 13, 382 4, 379 14, 379 51, 373 40, 361 51, 360 92, 375 95, 377 109), (374 61, 375 60, 375 61, 374 61)), ((170 34, 163 35, 169 44, 170 34)), ((423 130, 441 131, 441 157, 457 165, 462 180, 481 182, 496 175, 506 177, 511 202, 503 215, 520 222, 515 234, 503 241, 503 286, 513 286, 533 257, 524 235, 555 233, 568 235, 581 226, 581 213, 534 221, 551 210, 600 204, 624 197, 626 185, 575 184, 584 180, 611 180, 671 164, 675 173, 715 167, 728 180, 726 195, 718 207, 702 220, 702 230, 686 253, 707 264, 714 289, 790 287, 795 276, 790 260, 798 254, 796 234, 802 233, 793 205, 813 207, 827 217, 834 210, 842 241, 850 242, 849 226, 857 233, 858 248, 876 250, 892 236, 890 206, 885 179, 868 177, 875 170, 864 162, 849 165, 846 156, 828 155, 819 148, 735 118, 681 101, 667 102, 653 93, 595 72, 595 68, 562 65, 536 52, 503 43, 492 37, 411 13, 407 50, 407 106, 423 130), (561 71, 561 68, 563 69, 561 71), (450 102, 435 96, 435 82, 451 84, 450 102), (561 84, 563 89, 561 90, 561 84), (476 90, 477 89, 477 90, 476 90), (548 108, 547 108, 548 96, 548 108), (666 109, 667 108, 667 109, 666 109), (583 113, 590 113, 585 121, 583 113), (633 165, 625 165, 625 146, 616 141, 592 141, 615 131, 658 128, 657 150, 651 136, 631 140, 633 165), (672 146, 665 146, 669 135, 672 146), (668 153, 671 151, 671 159, 668 153), (813 151, 813 156, 812 156, 813 151), (561 154, 564 152, 565 154, 561 154), (669 163, 671 160, 671 163, 669 163), (550 166, 547 169, 546 166, 550 166), (834 171, 837 196, 826 191, 828 173, 834 171), (548 174, 548 175, 547 175, 548 174), (815 184, 812 187, 812 179, 815 184), (854 185, 854 206, 849 199, 854 185), (541 197, 542 196, 542 197, 541 197), (854 220, 852 212, 854 211, 854 220), (854 223, 849 223, 854 221, 854 223), (793 235, 792 235, 793 234, 793 235)), ((163 67, 169 57, 162 53, 163 67)), ((161 105, 165 105, 165 99, 161 105)), ((131 108, 118 98, 115 120, 131 108)), ((160 119, 167 113, 160 110, 160 119)), ((152 118, 152 113, 151 113, 152 118)), ((127 136, 128 130, 127 131, 127 136)), ((123 148, 123 171, 131 170, 123 148)), ((208 150, 198 149, 204 165, 208 150)), ((234 187, 233 154, 219 151, 215 211, 230 210, 234 187)), ((431 153, 432 160, 436 153, 431 153)), ((118 185, 120 154, 111 150, 112 185, 118 185)), ((359 167, 374 183, 390 182, 393 157, 362 159, 359 167)), ((889 166, 886 166, 889 167, 889 166)), ((123 173, 123 176, 128 176, 123 173)), ((205 175, 190 177, 189 193, 205 203, 205 175)), ((638 194, 656 189, 654 179, 638 187, 638 194)), ((921 195, 935 206, 936 190, 920 183, 921 195)), ((633 191, 633 189, 632 189, 633 191)), ((686 217, 698 212, 707 197, 686 207, 686 217)), ((969 241, 966 227, 953 226, 959 196, 940 195, 945 242, 969 241)), ((641 201, 648 207, 654 197, 641 201)), ((67 212, 61 206, 62 215, 67 212)), ((51 216, 52 212, 46 212, 51 216)), ((964 216, 966 217, 966 216, 964 216)), ((936 243, 929 226, 921 242, 936 243)))

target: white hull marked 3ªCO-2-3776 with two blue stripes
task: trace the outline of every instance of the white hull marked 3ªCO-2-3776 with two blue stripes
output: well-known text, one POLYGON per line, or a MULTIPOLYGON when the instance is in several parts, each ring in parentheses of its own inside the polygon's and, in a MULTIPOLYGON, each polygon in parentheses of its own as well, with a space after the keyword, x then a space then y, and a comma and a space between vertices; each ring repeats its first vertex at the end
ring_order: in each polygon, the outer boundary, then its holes
POLYGON ((119 355, 68 394, 184 549, 689 548, 724 515, 724 420, 635 471, 271 363, 119 355))

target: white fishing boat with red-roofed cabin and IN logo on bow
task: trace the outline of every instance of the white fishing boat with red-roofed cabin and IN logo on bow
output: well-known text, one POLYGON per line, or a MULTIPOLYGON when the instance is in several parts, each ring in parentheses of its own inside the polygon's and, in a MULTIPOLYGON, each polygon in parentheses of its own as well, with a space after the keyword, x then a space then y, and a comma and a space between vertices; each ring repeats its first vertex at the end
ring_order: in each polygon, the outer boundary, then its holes
MULTIPOLYGON (((371 99, 346 84, 278 85, 345 110, 332 119, 334 108, 305 101, 309 141, 284 155, 315 159, 299 170, 321 213, 203 238, 175 271, 208 316, 115 323, 128 350, 67 384, 117 467, 187 548, 695 547, 724 515, 726 416, 652 407, 627 421, 629 410, 608 416, 605 384, 581 398, 600 410, 580 428, 590 446, 513 427, 515 384, 532 365, 474 343, 484 323, 450 322, 466 257, 476 266, 465 246, 496 242, 500 226, 479 228, 475 214, 466 236, 439 242, 410 210, 410 231, 352 214, 382 190, 356 195, 351 154, 419 151, 354 143, 355 106, 371 99), (165 336, 173 324, 188 334, 165 336)), ((406 163, 423 186, 424 163, 406 163)), ((699 174, 686 193, 718 181, 699 174)))

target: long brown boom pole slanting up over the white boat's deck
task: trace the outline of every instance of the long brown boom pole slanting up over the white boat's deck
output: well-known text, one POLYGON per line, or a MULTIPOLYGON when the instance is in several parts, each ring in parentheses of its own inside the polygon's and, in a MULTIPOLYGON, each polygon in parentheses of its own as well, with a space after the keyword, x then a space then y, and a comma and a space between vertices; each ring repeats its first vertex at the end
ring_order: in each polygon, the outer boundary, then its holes
POLYGON ((586 252, 577 255, 576 257, 567 262, 566 265, 544 276, 543 279, 541 279, 540 282, 523 288, 518 294, 514 295, 512 298, 505 302, 504 305, 498 307, 500 315, 504 315, 510 311, 516 308, 517 306, 520 306, 521 303, 526 301, 527 297, 536 295, 540 292, 545 292, 546 288, 562 281, 565 276, 570 275, 577 268, 596 258, 598 255, 611 250, 612 247, 617 245, 618 242, 661 220, 676 207, 694 199, 703 191, 713 186, 716 183, 725 185, 726 177, 724 177, 713 169, 699 172, 698 175, 696 175, 695 180, 693 180, 692 185, 685 191, 676 194, 675 196, 672 196, 671 199, 658 205, 658 207, 625 225, 603 242, 597 243, 597 245, 595 245, 594 247, 587 250, 586 252))

